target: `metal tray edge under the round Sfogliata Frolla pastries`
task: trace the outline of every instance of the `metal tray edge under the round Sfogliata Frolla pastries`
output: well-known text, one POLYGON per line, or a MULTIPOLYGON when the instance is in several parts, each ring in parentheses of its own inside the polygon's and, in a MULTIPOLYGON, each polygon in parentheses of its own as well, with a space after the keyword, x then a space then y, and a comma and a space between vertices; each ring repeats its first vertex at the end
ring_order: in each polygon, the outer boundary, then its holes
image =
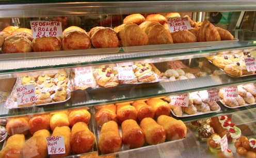
POLYGON ((61 51, 49 51, 49 52, 29 52, 29 53, 11 53, 4 54, 0 51, 0 61, 10 60, 18 58, 37 58, 37 57, 49 57, 49 56, 72 56, 72 55, 91 55, 91 54, 105 54, 105 53, 117 53, 121 47, 116 48, 91 48, 82 50, 61 50, 61 51))

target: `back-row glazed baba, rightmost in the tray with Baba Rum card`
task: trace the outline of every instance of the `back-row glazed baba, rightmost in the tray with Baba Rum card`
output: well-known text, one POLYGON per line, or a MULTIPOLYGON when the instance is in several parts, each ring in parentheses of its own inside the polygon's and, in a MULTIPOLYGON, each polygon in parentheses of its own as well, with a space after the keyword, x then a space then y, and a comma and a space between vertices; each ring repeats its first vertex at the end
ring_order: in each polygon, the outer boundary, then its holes
POLYGON ((76 109, 76 110, 72 110, 69 113, 68 118, 69 118, 70 126, 72 127, 74 124, 78 122, 84 122, 86 124, 89 124, 91 120, 91 114, 86 109, 76 109))

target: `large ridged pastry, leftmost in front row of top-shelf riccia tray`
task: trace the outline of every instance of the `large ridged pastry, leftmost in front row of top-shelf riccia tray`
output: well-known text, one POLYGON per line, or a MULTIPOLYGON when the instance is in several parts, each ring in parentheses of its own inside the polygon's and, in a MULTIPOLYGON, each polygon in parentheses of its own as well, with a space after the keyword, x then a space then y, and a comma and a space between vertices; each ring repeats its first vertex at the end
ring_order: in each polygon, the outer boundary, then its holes
POLYGON ((123 25, 118 32, 118 36, 123 47, 149 44, 149 37, 145 31, 133 23, 123 25))

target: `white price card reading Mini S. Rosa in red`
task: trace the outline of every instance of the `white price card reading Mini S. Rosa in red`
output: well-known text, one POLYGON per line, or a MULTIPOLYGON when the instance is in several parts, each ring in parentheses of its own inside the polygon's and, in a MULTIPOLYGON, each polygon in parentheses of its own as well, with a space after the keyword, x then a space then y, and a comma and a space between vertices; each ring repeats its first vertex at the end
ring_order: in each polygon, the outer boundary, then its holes
POLYGON ((15 88, 17 93, 17 104, 23 105, 36 101, 35 84, 18 86, 15 88))

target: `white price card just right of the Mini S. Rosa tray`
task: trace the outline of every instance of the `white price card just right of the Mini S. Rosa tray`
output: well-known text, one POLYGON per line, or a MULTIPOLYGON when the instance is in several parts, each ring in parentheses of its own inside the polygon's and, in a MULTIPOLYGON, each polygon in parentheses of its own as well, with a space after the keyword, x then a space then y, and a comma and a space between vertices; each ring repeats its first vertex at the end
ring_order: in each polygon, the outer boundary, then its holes
POLYGON ((93 83, 91 67, 75 68, 75 84, 83 86, 93 83))

